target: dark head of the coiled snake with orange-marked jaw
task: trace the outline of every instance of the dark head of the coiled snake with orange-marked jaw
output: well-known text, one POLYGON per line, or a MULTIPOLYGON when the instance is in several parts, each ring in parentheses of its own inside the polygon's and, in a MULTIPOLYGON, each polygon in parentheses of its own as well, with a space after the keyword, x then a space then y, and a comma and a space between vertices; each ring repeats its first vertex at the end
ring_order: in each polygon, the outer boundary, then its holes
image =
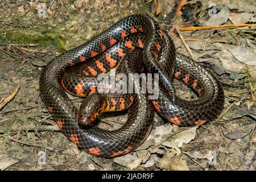
POLYGON ((81 125, 89 125, 105 110, 104 98, 94 93, 82 101, 80 110, 77 112, 77 119, 81 125))

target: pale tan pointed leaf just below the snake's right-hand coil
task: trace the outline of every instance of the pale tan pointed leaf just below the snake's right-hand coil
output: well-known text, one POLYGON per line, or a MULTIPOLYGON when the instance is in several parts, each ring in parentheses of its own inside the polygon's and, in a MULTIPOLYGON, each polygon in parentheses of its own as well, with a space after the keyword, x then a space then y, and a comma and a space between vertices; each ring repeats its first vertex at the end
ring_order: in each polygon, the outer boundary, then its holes
POLYGON ((198 126, 192 127, 191 129, 180 131, 179 133, 173 135, 171 138, 167 139, 162 143, 163 146, 167 147, 181 147, 183 143, 189 143, 196 137, 196 129, 198 126))

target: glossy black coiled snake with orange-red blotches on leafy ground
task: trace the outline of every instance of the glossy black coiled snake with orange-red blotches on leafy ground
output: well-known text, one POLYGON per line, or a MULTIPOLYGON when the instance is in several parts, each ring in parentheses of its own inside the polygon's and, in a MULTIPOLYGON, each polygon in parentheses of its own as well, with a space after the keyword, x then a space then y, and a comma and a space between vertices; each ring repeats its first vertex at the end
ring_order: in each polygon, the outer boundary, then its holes
POLYGON ((224 107, 220 82, 199 63, 176 53, 170 36, 154 19, 142 14, 127 16, 81 46, 55 57, 41 73, 39 92, 61 131, 77 147, 102 158, 125 155, 140 146, 152 130, 153 108, 175 125, 196 126, 212 121, 224 107), (133 54, 137 49, 142 53, 133 54), (120 65, 120 62, 125 64, 120 65), (75 74, 66 74, 69 69, 81 67, 81 73, 91 79, 90 76, 106 73, 118 65, 124 70, 129 64, 130 67, 137 65, 136 71, 138 65, 143 65, 144 71, 158 74, 158 98, 149 101, 147 94, 142 93, 112 94, 106 99, 95 93, 96 85, 92 82, 83 82, 83 78, 75 77, 75 74), (173 77, 195 90, 199 98, 187 101, 177 97, 173 77), (89 113, 97 113, 96 116, 99 114, 97 109, 104 110, 102 105, 113 111, 127 107, 127 122, 112 131, 96 125, 81 125, 78 117, 81 111, 63 88, 77 96, 88 96, 81 106, 89 113))

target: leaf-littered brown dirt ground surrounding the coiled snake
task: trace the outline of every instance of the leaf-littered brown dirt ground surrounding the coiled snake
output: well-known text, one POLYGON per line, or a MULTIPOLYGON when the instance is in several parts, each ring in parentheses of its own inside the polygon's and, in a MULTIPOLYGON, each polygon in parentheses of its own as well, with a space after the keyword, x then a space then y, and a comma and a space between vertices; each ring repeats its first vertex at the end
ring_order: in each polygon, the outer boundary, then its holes
MULTIPOLYGON (((3 41, 1 34, 0 170, 256 169, 256 30, 249 25, 220 26, 255 23, 253 1, 213 1, 215 5, 209 9, 204 8, 209 7, 204 1, 188 1, 183 15, 172 22, 169 17, 175 13, 176 1, 164 1, 164 5, 159 2, 160 9, 158 1, 145 6, 148 14, 172 36, 177 52, 193 57, 221 82, 225 105, 220 116, 203 126, 177 127, 155 113, 154 128, 142 146, 119 158, 97 158, 79 150, 61 133, 39 96, 40 73, 63 51, 48 46, 39 48, 37 42, 3 41), (208 14, 214 8, 215 19, 208 14), (208 28, 182 29, 203 26, 208 28)), ((176 80, 174 84, 178 96, 197 98, 184 84, 176 80)), ((77 106, 82 101, 70 98, 77 106)), ((99 127, 118 129, 126 117, 125 112, 105 114, 99 127)))

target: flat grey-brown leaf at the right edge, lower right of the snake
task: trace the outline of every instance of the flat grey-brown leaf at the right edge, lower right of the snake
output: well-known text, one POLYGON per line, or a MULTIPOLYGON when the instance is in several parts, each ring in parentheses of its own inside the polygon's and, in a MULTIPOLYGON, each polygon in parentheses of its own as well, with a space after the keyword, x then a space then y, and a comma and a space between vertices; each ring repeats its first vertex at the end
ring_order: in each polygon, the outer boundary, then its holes
POLYGON ((233 130, 232 132, 226 134, 226 137, 228 137, 229 139, 243 138, 247 134, 249 134, 252 130, 254 130, 254 128, 255 128, 255 123, 241 126, 239 129, 233 130))

